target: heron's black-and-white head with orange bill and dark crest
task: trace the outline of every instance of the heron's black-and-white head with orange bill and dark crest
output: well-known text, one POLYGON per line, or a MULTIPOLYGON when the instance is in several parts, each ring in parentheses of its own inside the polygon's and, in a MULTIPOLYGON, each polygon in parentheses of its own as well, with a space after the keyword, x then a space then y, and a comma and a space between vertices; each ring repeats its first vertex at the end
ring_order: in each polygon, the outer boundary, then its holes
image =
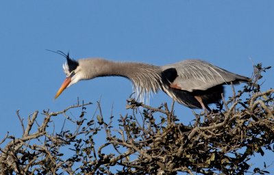
POLYGON ((71 59, 71 57, 69 57, 69 53, 67 55, 62 53, 62 55, 66 57, 66 63, 63 64, 66 79, 64 80, 64 83, 62 83, 60 89, 56 93, 55 98, 58 98, 58 96, 60 96, 60 94, 66 89, 66 87, 69 87, 82 79, 82 71, 79 66, 79 62, 77 62, 74 59, 71 59))

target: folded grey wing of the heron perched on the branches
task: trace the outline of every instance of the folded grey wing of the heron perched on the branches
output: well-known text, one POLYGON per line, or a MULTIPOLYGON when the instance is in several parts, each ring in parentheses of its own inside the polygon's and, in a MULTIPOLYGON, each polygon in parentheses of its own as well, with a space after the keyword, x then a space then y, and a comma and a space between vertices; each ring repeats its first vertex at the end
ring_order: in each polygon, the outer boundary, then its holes
POLYGON ((182 62, 162 66, 161 68, 162 70, 175 68, 177 77, 170 83, 176 84, 182 90, 187 90, 188 92, 208 90, 208 88, 215 85, 249 80, 247 77, 236 75, 199 59, 186 59, 182 62))

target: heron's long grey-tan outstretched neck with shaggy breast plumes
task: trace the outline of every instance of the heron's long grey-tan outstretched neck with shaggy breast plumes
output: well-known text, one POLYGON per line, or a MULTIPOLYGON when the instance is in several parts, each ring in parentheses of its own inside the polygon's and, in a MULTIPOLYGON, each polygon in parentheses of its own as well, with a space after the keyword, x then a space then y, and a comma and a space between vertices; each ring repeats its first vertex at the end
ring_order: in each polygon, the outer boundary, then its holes
POLYGON ((158 66, 133 62, 111 62, 105 59, 86 60, 87 79, 105 76, 126 77, 134 84, 139 95, 157 92, 161 85, 161 70, 158 66))

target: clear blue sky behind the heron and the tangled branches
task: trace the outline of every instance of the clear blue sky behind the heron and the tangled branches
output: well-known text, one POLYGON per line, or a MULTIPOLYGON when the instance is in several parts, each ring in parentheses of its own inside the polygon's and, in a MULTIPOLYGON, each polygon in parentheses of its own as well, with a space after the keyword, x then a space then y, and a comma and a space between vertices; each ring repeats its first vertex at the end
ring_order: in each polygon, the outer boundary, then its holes
MULTIPOLYGON (((45 49, 157 65, 199 58, 245 76, 252 62, 274 66, 274 1, 2 1, 0 19, 0 139, 6 131, 21 135, 16 109, 24 117, 58 111, 77 96, 101 98, 107 116, 112 105, 117 118, 127 112, 132 85, 121 77, 79 82, 53 100, 64 58, 45 49)), ((273 87, 273 75, 265 74, 264 90, 273 87)), ((151 105, 164 101, 171 102, 160 93, 151 105)), ((193 119, 190 109, 175 107, 182 122, 193 119)), ((264 159, 271 163, 273 153, 253 162, 264 159)))

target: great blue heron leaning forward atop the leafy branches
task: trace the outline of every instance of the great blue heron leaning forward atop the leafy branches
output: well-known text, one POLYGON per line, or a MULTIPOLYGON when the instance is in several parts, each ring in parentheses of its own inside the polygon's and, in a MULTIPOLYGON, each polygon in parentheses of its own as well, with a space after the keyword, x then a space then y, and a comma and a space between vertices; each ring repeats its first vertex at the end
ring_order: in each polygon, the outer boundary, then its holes
POLYGON ((139 95, 156 93, 159 89, 174 100, 191 109, 208 109, 209 104, 218 103, 224 92, 223 85, 249 81, 248 77, 198 59, 186 59, 166 66, 154 66, 136 62, 112 62, 105 59, 74 60, 66 57, 63 65, 66 79, 58 90, 58 98, 66 87, 80 80, 105 76, 121 76, 130 79, 139 95))

